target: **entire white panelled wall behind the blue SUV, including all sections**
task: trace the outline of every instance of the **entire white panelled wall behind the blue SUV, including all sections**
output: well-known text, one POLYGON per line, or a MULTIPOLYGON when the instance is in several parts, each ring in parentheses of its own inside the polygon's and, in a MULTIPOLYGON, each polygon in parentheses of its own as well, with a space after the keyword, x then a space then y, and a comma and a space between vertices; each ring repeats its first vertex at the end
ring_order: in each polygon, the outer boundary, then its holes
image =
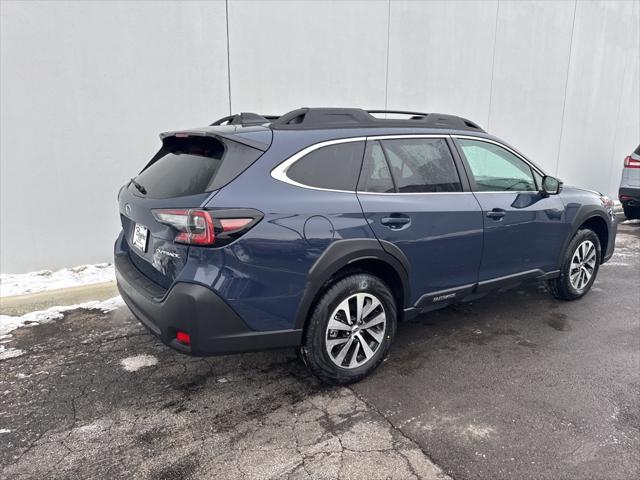
POLYGON ((640 142, 638 0, 1 5, 3 273, 108 261, 158 133, 230 108, 459 114, 611 196, 640 142))

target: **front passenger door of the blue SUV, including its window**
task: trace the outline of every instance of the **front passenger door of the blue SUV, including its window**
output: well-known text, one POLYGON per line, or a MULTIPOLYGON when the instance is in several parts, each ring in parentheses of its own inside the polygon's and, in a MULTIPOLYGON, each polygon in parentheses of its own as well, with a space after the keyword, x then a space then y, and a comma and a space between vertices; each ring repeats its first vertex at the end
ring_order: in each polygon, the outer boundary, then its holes
POLYGON ((456 136, 455 142, 482 207, 481 286, 556 270, 569 226, 560 196, 539 191, 542 172, 496 141, 456 136))

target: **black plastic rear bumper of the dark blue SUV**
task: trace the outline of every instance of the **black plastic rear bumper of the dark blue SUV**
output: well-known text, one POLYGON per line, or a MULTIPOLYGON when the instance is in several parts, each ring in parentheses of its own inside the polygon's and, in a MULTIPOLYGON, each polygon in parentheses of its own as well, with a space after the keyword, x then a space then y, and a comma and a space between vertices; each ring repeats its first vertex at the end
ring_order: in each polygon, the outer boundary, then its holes
POLYGON ((298 346, 302 330, 255 331, 211 289, 177 282, 165 290, 116 253, 118 290, 131 312, 166 345, 189 355, 223 355, 298 346), (176 340, 189 334, 191 345, 176 340))

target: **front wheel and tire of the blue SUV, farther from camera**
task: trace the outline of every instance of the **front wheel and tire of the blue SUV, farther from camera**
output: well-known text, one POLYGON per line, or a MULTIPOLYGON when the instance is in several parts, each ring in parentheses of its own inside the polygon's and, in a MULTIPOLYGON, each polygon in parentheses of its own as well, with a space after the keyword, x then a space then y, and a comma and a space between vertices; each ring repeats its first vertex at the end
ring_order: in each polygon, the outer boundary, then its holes
POLYGON ((578 230, 562 259, 560 276, 547 281, 549 293, 560 300, 577 300, 593 285, 600 268, 600 240, 592 230, 578 230))

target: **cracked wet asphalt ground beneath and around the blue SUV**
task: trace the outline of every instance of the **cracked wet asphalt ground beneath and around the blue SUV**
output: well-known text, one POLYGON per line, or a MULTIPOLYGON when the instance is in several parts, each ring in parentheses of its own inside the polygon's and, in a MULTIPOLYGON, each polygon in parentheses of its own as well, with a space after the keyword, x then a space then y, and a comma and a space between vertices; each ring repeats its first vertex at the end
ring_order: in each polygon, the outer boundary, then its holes
POLYGON ((640 225, 593 291, 533 285, 402 324, 350 388, 291 351, 195 359, 122 308, 13 332, 0 478, 640 475, 640 225))

